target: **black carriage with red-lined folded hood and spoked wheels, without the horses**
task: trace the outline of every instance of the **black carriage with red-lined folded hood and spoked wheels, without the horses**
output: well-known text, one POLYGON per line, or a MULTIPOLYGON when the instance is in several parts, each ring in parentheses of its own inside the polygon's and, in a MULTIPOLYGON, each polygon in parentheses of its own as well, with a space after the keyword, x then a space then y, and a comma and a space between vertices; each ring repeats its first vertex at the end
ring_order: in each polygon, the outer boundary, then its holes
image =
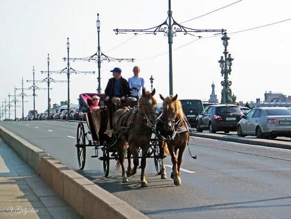
MULTIPOLYGON (((98 157, 103 161, 104 176, 109 174, 110 160, 118 160, 118 151, 116 148, 116 142, 120 136, 116 136, 113 133, 112 118, 113 113, 122 108, 135 109, 137 101, 124 103, 118 107, 108 103, 105 104, 104 94, 84 93, 79 96, 80 109, 84 112, 88 131, 85 131, 83 122, 78 123, 77 128, 77 157, 78 164, 81 170, 85 167, 86 161, 86 147, 94 147, 95 155, 91 157, 98 157), (92 105, 93 96, 100 97, 100 109, 90 109, 92 105), (99 149, 101 154, 99 154, 99 149)), ((153 135, 150 141, 150 147, 147 152, 147 158, 154 158, 156 171, 161 174, 161 158, 159 157, 159 146, 157 142, 157 136, 153 135)), ((141 158, 141 151, 138 149, 138 157, 141 158)), ((126 157, 127 158, 127 157, 126 157)))

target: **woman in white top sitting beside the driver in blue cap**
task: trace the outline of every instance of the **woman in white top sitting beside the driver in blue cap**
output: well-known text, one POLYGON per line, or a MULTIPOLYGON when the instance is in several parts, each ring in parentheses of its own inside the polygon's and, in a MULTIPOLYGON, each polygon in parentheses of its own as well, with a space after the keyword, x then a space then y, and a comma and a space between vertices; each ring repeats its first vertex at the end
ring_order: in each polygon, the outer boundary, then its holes
POLYGON ((134 76, 129 77, 129 88, 131 90, 130 97, 138 100, 138 97, 141 96, 142 89, 144 89, 144 79, 138 76, 138 73, 140 72, 138 66, 134 66, 132 72, 134 76), (134 87, 138 90, 138 93, 136 93, 136 91, 132 89, 134 87))

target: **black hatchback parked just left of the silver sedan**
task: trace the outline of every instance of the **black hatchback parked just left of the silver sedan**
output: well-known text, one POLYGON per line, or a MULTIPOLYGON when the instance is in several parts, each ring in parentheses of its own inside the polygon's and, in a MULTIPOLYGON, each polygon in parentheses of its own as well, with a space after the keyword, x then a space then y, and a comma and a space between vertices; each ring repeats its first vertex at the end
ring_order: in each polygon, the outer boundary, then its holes
POLYGON ((243 112, 238 106, 218 104, 206 107, 196 118, 197 132, 208 129, 210 133, 217 131, 236 131, 236 125, 243 112))

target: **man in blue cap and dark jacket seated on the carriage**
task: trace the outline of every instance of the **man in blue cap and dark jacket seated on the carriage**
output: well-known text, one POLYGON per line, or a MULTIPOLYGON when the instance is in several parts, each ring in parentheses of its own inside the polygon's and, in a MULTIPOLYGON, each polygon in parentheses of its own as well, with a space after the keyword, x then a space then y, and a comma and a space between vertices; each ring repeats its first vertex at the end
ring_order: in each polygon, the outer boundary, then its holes
POLYGON ((111 70, 113 77, 108 80, 105 88, 105 101, 111 99, 111 103, 121 105, 123 101, 131 101, 129 82, 121 76, 121 69, 111 70))

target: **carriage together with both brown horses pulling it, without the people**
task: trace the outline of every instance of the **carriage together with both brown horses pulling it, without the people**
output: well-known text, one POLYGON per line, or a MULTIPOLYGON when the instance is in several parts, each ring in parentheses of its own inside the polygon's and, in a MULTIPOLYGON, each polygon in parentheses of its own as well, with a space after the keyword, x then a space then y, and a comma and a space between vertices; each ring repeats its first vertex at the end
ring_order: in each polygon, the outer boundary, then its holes
MULTIPOLYGON (((93 146, 95 155, 103 161, 105 177, 109 174, 109 161, 117 160, 117 167, 122 167, 122 182, 128 182, 128 177, 136 173, 141 158, 141 187, 146 187, 146 158, 154 158, 157 173, 161 179, 166 179, 164 152, 171 155, 173 172, 171 178, 175 185, 181 184, 180 166, 182 155, 189 141, 191 127, 184 115, 181 103, 175 97, 163 98, 162 111, 156 114, 157 101, 152 92, 144 91, 138 103, 127 102, 120 106, 105 104, 104 94, 81 94, 79 104, 86 115, 87 132, 82 122, 77 128, 77 156, 80 169, 85 166, 86 147, 93 146), (100 109, 90 109, 94 95, 100 97, 100 109), (90 137, 91 134, 91 137, 90 137), (98 154, 101 149, 102 154, 98 154), (178 150, 179 149, 179 154, 178 150), (128 169, 124 161, 128 159, 128 169), (131 167, 133 158, 133 168, 131 167)), ((189 150, 190 151, 190 150, 189 150)), ((195 156, 192 156, 195 159, 195 156)))

